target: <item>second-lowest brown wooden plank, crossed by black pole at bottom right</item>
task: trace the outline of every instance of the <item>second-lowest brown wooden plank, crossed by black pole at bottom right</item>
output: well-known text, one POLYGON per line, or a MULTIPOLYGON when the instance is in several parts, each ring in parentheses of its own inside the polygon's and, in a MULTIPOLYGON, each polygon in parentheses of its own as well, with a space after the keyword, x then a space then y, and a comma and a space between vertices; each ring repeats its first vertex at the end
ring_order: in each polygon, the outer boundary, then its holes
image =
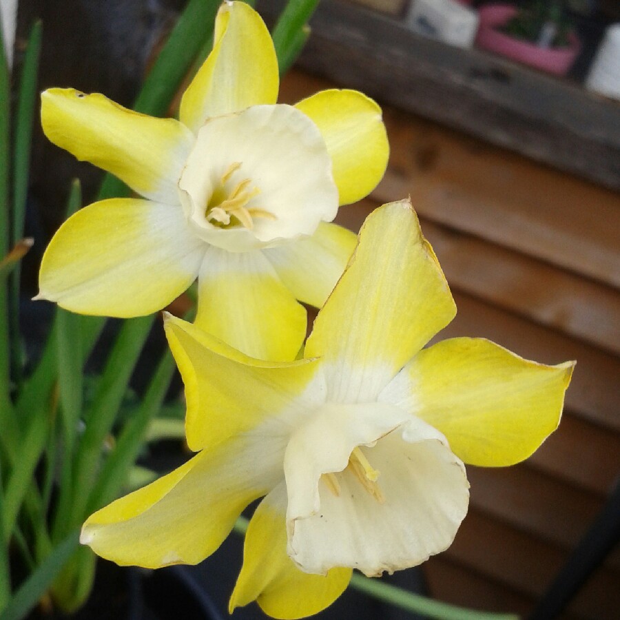
MULTIPOLYGON (((530 597, 548 588, 566 553, 554 545, 471 509, 446 559, 463 564, 530 597)), ((591 620, 617 620, 620 572, 601 568, 577 594, 568 611, 591 620)))

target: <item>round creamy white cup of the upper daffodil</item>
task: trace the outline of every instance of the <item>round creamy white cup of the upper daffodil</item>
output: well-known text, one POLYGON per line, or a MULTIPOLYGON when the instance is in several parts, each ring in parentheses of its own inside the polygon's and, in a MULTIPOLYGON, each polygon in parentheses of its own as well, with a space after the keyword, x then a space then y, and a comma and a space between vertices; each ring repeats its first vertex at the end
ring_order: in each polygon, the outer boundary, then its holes
POLYGON ((310 236, 338 213, 324 142, 291 105, 255 105, 211 118, 198 132, 179 187, 196 235, 232 252, 310 236), (209 221, 209 206, 223 204, 239 187, 249 192, 245 208, 257 214, 251 227, 209 221))

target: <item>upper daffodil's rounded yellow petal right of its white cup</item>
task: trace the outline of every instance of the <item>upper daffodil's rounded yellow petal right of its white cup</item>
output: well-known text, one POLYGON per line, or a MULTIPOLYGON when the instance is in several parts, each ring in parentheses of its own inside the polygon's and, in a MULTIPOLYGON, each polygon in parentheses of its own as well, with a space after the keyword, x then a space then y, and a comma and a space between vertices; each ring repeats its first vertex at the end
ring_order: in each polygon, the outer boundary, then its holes
POLYGON ((327 144, 340 204, 370 194, 390 152, 381 108, 356 90, 322 90, 296 107, 316 123, 327 144))

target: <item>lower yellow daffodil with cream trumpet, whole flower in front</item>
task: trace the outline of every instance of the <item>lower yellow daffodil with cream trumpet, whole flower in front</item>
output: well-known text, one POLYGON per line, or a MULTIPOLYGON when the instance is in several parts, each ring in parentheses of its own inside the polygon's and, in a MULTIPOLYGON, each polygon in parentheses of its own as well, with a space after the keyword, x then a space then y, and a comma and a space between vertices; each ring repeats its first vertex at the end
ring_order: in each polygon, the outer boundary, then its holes
POLYGON ((380 575, 448 547, 468 507, 465 463, 528 457, 559 423, 572 362, 488 340, 422 348, 455 304, 409 202, 366 220, 296 362, 260 362, 167 318, 199 451, 92 515, 81 540, 118 564, 195 564, 251 518, 231 610, 318 612, 351 570, 380 575))

